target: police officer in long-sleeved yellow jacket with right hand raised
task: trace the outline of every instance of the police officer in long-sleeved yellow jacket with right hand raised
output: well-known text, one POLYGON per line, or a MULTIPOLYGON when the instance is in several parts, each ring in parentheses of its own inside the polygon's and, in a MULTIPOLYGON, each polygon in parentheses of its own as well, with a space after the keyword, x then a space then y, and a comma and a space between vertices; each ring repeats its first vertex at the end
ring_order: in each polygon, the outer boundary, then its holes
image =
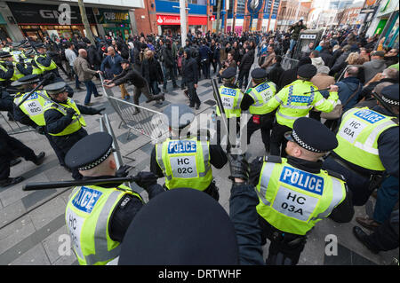
POLYGON ((267 112, 276 110, 276 123, 271 134, 271 154, 280 155, 284 153, 284 133, 292 130, 293 122, 304 117, 308 112, 316 108, 318 111, 331 112, 338 100, 338 86, 331 85, 330 95, 327 99, 318 91, 318 88, 310 82, 316 75, 316 67, 306 64, 299 67, 298 80, 286 85, 275 97, 268 101, 267 112))

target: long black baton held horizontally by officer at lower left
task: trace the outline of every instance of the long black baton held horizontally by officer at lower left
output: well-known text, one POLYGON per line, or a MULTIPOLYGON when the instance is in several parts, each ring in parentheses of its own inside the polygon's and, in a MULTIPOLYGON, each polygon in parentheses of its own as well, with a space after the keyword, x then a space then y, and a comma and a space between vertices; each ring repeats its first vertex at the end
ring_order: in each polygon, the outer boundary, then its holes
POLYGON ((36 182, 23 185, 22 191, 37 191, 37 190, 48 190, 57 188, 67 188, 81 185, 107 185, 112 183, 125 183, 125 182, 137 182, 139 177, 113 177, 103 179, 90 179, 90 180, 69 180, 59 182, 36 182))

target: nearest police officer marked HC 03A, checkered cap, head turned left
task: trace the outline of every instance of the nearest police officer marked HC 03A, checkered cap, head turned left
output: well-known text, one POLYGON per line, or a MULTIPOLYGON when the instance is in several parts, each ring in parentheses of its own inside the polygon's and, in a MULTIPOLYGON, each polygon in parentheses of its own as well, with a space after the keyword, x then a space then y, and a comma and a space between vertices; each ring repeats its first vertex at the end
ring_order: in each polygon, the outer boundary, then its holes
POLYGON ((250 182, 260 200, 262 237, 271 241, 268 265, 297 264, 317 222, 329 216, 347 223, 354 215, 344 178, 322 169, 321 158, 338 145, 332 131, 321 122, 301 117, 284 137, 287 159, 259 157, 250 170, 250 182))

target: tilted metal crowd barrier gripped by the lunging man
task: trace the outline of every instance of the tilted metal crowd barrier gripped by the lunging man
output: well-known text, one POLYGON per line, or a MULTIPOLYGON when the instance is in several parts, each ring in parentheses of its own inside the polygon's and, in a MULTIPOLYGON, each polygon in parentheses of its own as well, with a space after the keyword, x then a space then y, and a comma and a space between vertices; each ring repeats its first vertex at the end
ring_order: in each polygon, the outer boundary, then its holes
POLYGON ((116 114, 121 119, 118 129, 121 128, 122 124, 129 129, 126 137, 127 140, 129 140, 132 130, 155 141, 168 133, 164 114, 143 106, 135 105, 120 98, 115 98, 113 91, 104 87, 104 80, 101 75, 100 80, 109 104, 114 108, 116 114))

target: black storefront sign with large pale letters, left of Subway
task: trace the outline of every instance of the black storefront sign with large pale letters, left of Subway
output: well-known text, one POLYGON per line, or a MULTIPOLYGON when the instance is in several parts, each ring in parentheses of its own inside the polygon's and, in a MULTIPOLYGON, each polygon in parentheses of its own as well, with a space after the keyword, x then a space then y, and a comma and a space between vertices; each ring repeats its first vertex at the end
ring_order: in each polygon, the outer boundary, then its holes
MULTIPOLYGON (((63 25, 82 24, 81 12, 77 6, 71 5, 70 11, 66 11, 65 9, 59 11, 58 5, 22 4, 14 2, 7 2, 7 5, 12 12, 12 16, 15 18, 18 24, 61 25, 60 19, 65 22, 63 25)), ((89 22, 92 24, 96 23, 92 9, 85 9, 89 22)))

